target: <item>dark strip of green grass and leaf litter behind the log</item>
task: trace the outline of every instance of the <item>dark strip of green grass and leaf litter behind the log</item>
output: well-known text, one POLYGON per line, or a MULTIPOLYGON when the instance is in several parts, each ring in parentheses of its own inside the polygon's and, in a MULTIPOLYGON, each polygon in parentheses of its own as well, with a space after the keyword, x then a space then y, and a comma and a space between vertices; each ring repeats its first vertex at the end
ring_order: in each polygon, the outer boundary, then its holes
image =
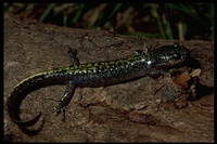
POLYGON ((214 40, 214 3, 4 3, 7 12, 75 28, 214 40))

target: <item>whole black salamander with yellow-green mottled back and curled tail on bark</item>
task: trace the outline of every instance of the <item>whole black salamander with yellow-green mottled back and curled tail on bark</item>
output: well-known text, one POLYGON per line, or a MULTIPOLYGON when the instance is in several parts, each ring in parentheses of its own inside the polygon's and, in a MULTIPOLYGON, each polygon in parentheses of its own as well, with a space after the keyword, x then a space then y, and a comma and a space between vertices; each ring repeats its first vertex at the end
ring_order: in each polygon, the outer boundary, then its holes
POLYGON ((33 120, 21 121, 20 105, 26 95, 37 89, 53 84, 67 84, 67 89, 56 107, 58 114, 63 115, 65 106, 71 102, 77 87, 105 87, 120 83, 144 76, 159 76, 165 68, 182 64, 190 56, 190 51, 178 44, 163 45, 149 53, 137 52, 132 57, 108 62, 79 64, 77 51, 68 49, 72 65, 55 68, 30 76, 21 81, 7 102, 10 118, 24 132, 27 127, 35 125, 41 113, 33 120))

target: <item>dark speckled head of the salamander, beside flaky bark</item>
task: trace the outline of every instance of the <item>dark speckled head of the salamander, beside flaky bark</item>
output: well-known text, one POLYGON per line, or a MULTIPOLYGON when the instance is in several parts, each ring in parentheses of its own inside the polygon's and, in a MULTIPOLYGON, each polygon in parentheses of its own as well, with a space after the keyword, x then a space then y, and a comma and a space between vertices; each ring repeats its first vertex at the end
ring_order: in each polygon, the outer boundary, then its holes
POLYGON ((167 68, 182 64, 189 57, 190 51, 187 48, 179 43, 174 43, 154 50, 151 54, 151 62, 156 68, 167 68))

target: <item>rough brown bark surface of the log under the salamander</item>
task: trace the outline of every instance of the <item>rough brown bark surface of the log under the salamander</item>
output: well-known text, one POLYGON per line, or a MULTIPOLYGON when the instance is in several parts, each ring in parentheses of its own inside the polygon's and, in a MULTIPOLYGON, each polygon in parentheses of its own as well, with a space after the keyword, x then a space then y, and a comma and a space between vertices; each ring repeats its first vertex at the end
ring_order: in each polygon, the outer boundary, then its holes
MULTIPOLYGON (((42 130, 29 136, 9 118, 7 99, 24 78, 69 65, 64 45, 76 48, 80 63, 87 63, 122 58, 131 55, 132 50, 146 51, 174 41, 64 28, 8 14, 3 32, 5 142, 214 142, 212 42, 177 41, 190 49, 201 65, 197 83, 192 88, 195 99, 183 96, 178 101, 180 97, 175 95, 180 94, 171 71, 156 79, 144 77, 106 88, 77 88, 63 122, 53 107, 65 87, 47 87, 30 93, 21 105, 23 119, 43 114, 42 130)), ((183 73, 183 68, 178 71, 183 73)))

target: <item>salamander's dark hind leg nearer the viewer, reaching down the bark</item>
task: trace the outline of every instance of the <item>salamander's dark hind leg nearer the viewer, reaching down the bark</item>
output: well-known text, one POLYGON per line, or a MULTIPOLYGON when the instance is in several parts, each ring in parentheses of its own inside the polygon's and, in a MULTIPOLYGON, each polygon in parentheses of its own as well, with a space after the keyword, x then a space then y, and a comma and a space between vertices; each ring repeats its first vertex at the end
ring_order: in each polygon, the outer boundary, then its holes
POLYGON ((63 121, 65 120, 66 106, 69 104, 69 102, 73 97, 73 94, 75 92, 75 89, 76 89, 75 84, 72 81, 69 81, 67 84, 66 91, 63 94, 63 96, 61 97, 61 100, 59 102, 59 106, 56 107, 56 109, 58 109, 56 116, 61 113, 63 121))

